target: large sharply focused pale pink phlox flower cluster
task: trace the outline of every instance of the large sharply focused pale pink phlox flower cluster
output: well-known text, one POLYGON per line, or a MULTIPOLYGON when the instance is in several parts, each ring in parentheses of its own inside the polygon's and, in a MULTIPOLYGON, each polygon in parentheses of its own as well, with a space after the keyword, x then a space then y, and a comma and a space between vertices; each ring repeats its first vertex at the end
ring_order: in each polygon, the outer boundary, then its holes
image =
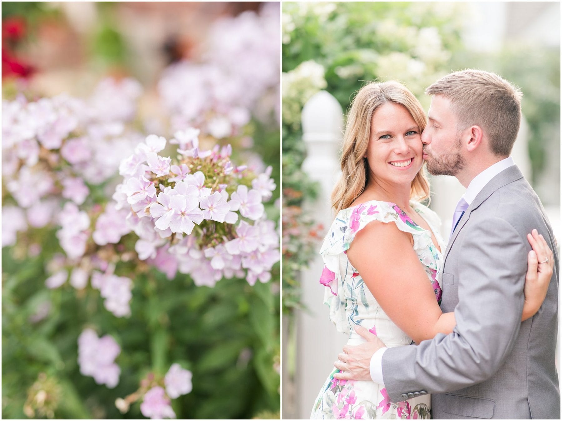
MULTIPOLYGON (((158 155, 166 139, 149 135, 121 162, 124 180, 116 187, 114 209, 128 210, 125 221, 139 237, 139 259, 169 279, 180 271, 197 285, 234 276, 250 284, 268 282, 279 260, 279 237, 262 203, 276 187, 271 168, 255 176, 246 166, 234 166, 230 146, 201 151, 199 134, 193 128, 175 133, 174 162, 158 155)), ((106 229, 115 234, 108 227, 98 235, 106 229)))

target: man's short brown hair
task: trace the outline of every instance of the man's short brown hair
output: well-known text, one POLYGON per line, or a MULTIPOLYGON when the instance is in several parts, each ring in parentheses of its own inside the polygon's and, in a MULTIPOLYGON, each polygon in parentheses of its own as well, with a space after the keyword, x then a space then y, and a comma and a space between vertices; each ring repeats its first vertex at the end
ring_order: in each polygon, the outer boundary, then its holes
POLYGON ((443 76, 425 90, 448 98, 458 130, 480 126, 497 156, 509 156, 521 123, 523 93, 495 73, 466 69, 443 76))

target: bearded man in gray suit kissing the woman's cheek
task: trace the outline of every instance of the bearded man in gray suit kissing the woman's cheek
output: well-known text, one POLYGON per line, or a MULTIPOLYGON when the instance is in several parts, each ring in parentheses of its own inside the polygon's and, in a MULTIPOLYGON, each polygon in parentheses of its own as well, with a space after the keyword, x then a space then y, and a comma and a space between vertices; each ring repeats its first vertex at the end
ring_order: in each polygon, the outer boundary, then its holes
POLYGON ((422 134, 427 168, 466 187, 442 273, 441 309, 454 311, 457 325, 394 348, 357 327, 367 342, 344 347, 334 364, 343 373, 334 377, 373 379, 393 402, 433 393, 434 419, 560 419, 558 252, 537 195, 509 157, 522 94, 479 70, 448 74, 426 93, 433 96, 422 134), (526 236, 534 228, 554 251, 555 267, 540 310, 521 323, 526 236))

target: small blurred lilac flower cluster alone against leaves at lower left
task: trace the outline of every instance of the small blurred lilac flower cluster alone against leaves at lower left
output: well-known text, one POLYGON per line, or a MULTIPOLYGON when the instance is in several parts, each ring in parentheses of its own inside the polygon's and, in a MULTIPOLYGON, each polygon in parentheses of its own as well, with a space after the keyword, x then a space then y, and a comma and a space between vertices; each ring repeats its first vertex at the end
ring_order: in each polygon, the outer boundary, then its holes
POLYGON ((99 338, 92 329, 84 329, 78 337, 80 373, 93 377, 98 384, 117 386, 121 369, 114 361, 120 353, 121 347, 109 335, 99 338))

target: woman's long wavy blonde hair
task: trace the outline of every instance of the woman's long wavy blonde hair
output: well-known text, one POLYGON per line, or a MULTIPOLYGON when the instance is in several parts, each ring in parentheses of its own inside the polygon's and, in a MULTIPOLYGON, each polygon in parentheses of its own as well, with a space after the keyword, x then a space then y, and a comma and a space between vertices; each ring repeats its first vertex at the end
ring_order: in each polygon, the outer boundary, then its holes
MULTIPOLYGON (((419 126, 420 133, 427 124, 418 98, 401 83, 393 80, 370 82, 359 89, 347 116, 341 157, 342 175, 332 191, 332 207, 336 213, 350 207, 369 181, 368 162, 364 156, 369 146, 371 119, 377 108, 387 102, 404 106, 419 126)), ((422 166, 412 181, 410 198, 422 201, 428 197, 429 183, 422 166)))

